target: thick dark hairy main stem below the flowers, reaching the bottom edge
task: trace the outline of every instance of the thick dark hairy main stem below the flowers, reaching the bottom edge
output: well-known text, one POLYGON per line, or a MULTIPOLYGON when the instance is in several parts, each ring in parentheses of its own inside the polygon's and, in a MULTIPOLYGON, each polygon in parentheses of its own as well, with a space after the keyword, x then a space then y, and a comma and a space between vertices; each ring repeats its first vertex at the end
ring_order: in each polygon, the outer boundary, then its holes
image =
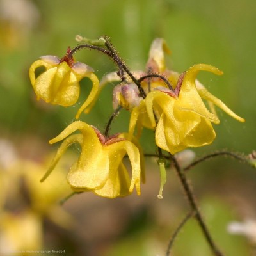
POLYGON ((214 255, 223 256, 223 254, 220 252, 220 250, 218 250, 216 244, 212 240, 211 234, 210 234, 209 230, 207 229, 207 227, 204 223, 202 215, 200 214, 200 211, 199 211, 198 206, 196 204, 195 196, 193 195, 192 189, 189 187, 188 179, 186 178, 186 175, 185 175, 184 171, 180 168, 179 163, 177 162, 177 160, 175 159, 175 157, 173 155, 171 155, 171 159, 174 163, 175 170, 176 170, 177 175, 180 179, 180 182, 181 182, 182 187, 185 191, 185 194, 188 198, 190 207, 193 211, 195 211, 195 218, 198 221, 198 224, 200 225, 200 228, 202 229, 202 232, 204 233, 204 236, 205 236, 205 239, 207 240, 207 243, 211 247, 212 252, 214 253, 214 255))

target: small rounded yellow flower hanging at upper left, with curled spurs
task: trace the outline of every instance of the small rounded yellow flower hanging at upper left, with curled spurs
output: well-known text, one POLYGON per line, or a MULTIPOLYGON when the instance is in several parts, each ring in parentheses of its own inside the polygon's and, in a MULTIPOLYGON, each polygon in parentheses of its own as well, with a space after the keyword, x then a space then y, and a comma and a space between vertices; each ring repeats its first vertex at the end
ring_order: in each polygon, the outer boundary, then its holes
POLYGON ((29 68, 29 77, 35 90, 37 100, 40 98, 47 103, 58 104, 61 106, 72 106, 79 98, 79 81, 88 77, 92 83, 92 90, 88 98, 77 111, 76 118, 79 118, 83 111, 92 104, 99 89, 99 80, 93 73, 90 66, 74 61, 67 54, 60 60, 56 56, 42 56, 35 61, 29 68), (36 77, 35 72, 39 67, 44 67, 45 71, 36 77))

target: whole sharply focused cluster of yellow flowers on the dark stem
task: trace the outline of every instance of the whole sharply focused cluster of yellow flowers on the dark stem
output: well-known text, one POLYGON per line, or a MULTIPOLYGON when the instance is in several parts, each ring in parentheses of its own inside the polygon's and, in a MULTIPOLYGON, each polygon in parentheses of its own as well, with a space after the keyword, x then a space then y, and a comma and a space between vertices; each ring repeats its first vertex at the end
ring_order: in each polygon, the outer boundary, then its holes
MULTIPOLYGON (((150 47, 145 71, 127 72, 119 61, 118 72, 107 74, 101 81, 93 68, 74 60, 70 48, 61 59, 43 56, 31 65, 29 76, 37 99, 51 104, 72 106, 79 97, 79 81, 83 77, 92 81, 92 91, 77 111, 77 119, 83 111, 90 111, 102 88, 113 81, 120 81, 113 89, 113 108, 122 107, 131 112, 128 131, 111 136, 82 121, 68 125, 61 134, 49 141, 56 143, 63 140, 63 143, 42 180, 52 172, 65 150, 72 143, 77 143, 81 146, 81 154, 67 175, 67 182, 73 191, 93 191, 99 196, 115 198, 129 195, 135 186, 140 195, 140 180, 145 180, 145 177, 143 150, 138 138, 143 127, 155 131, 157 147, 175 154, 188 147, 212 143, 216 134, 211 123, 220 122, 214 105, 239 122, 244 122, 196 80, 200 70, 216 75, 223 72, 205 64, 194 65, 182 74, 168 70, 164 60, 164 52, 168 51, 165 41, 156 38, 150 47), (36 77, 35 71, 41 66, 45 67, 45 71, 36 77), (207 100, 209 109, 202 99, 207 100), (76 130, 81 133, 72 134, 76 130), (125 155, 131 162, 131 175, 123 163, 125 155)), ((112 53, 115 55, 115 51, 112 53)))

